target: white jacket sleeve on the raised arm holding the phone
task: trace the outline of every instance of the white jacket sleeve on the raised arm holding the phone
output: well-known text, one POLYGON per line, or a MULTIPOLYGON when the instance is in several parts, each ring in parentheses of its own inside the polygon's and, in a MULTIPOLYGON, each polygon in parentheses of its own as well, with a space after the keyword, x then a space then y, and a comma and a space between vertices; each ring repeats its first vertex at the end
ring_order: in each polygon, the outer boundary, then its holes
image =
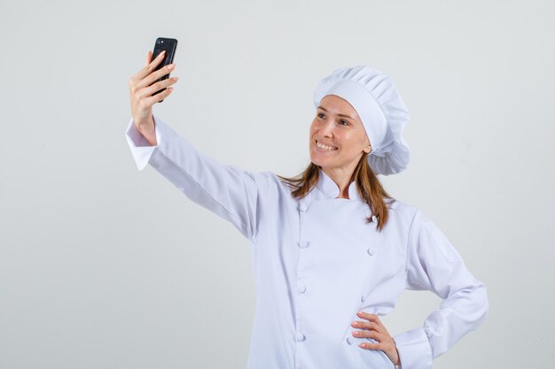
POLYGON ((172 182, 193 202, 215 212, 247 239, 254 242, 260 218, 261 188, 268 183, 269 173, 250 173, 233 165, 223 165, 196 150, 154 116, 156 146, 149 146, 133 119, 126 138, 129 149, 142 171, 152 167, 172 182))

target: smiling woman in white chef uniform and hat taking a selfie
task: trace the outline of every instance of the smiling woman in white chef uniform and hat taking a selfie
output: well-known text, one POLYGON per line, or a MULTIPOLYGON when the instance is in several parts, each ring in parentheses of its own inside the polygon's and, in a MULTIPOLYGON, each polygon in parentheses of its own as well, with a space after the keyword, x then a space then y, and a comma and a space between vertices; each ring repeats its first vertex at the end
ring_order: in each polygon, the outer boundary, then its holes
POLYGON ((318 83, 311 162, 287 179, 220 164, 154 117, 152 105, 177 79, 152 84, 175 65, 153 72, 161 56, 151 58, 129 80, 129 148, 139 170, 152 165, 251 242, 248 368, 428 369, 481 324, 485 285, 434 222, 388 196, 377 177, 403 171, 410 158, 408 111, 384 73, 341 68, 318 83), (405 288, 430 290, 442 304, 422 327, 391 336, 379 316, 405 288))

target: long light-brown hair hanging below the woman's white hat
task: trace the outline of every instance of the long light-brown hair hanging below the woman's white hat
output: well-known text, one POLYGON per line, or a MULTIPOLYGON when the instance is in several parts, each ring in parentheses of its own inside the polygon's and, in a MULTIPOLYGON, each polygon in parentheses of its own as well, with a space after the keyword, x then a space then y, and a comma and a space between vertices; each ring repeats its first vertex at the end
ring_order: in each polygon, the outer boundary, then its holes
MULTIPOLYGON (((370 207, 371 213, 377 217, 377 229, 381 231, 386 226, 387 219, 389 219, 386 200, 388 200, 388 204, 391 204, 395 201, 395 198, 387 194, 378 176, 372 171, 371 166, 368 165, 367 157, 368 154, 363 152, 363 156, 356 165, 349 183, 356 181, 356 190, 370 207)), ((310 162, 309 166, 302 173, 294 177, 282 177, 281 175, 277 175, 277 177, 286 184, 296 188, 291 194, 294 198, 301 199, 307 196, 310 190, 316 186, 320 177, 320 166, 310 162)), ((366 218, 367 223, 371 223, 371 221, 371 216, 366 218)))

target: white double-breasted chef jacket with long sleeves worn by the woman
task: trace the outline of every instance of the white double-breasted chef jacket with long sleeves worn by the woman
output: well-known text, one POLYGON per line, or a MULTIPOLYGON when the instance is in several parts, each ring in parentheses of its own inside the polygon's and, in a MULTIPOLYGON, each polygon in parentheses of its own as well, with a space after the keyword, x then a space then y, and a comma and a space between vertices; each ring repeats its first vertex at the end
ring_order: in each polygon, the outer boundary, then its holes
MULTIPOLYGON (((368 204, 320 169, 316 188, 295 199, 273 173, 223 165, 154 116, 156 146, 129 122, 138 170, 152 167, 185 196, 227 219, 251 243, 256 309, 248 369, 393 368, 381 350, 364 350, 351 327, 357 311, 385 315, 403 289, 427 289, 439 309, 393 336, 403 369, 428 369, 485 318, 485 285, 417 207, 395 200, 377 231, 368 204)), ((374 218, 375 220, 375 218, 374 218)))

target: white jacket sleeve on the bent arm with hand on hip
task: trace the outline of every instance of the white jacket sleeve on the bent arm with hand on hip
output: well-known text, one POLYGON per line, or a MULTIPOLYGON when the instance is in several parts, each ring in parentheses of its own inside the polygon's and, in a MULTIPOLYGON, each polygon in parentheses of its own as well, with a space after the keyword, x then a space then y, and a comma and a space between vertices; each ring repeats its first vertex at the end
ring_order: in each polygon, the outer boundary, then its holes
POLYGON ((431 290, 443 300, 423 327, 393 337, 403 369, 430 369, 435 357, 481 325, 489 309, 486 286, 473 277, 445 234, 419 210, 409 232, 406 285, 431 290))

